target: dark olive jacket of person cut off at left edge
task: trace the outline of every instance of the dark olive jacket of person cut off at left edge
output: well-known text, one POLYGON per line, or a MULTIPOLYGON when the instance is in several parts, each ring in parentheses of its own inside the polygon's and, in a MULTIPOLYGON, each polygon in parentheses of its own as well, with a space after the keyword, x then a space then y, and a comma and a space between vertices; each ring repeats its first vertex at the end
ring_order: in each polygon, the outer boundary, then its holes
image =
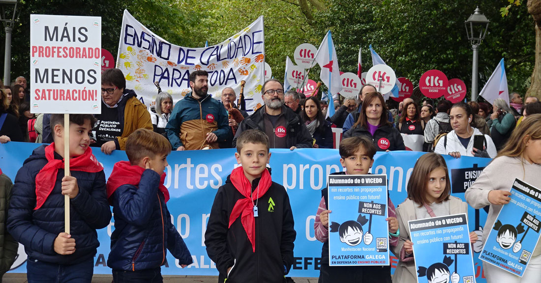
POLYGON ((18 242, 5 228, 6 214, 8 212, 9 196, 11 192, 11 179, 0 171, 0 277, 9 271, 17 257, 18 242))

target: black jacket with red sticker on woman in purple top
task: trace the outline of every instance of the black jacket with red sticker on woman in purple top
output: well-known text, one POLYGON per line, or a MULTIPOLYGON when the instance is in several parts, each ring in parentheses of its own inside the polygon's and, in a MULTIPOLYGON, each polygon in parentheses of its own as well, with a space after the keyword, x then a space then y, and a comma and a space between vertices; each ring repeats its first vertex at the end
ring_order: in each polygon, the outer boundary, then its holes
POLYGON ((406 150, 404 139, 391 123, 378 127, 374 132, 374 136, 364 126, 351 128, 344 133, 344 138, 351 137, 371 138, 378 151, 406 150))

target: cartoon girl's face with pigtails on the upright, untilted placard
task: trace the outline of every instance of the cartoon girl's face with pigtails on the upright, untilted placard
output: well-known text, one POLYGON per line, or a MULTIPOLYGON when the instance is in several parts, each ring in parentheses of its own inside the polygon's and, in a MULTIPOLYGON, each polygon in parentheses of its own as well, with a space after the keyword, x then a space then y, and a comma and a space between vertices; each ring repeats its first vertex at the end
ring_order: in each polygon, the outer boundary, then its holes
POLYGON ((344 242, 349 246, 357 246, 361 241, 365 242, 365 245, 370 245, 372 242, 373 236, 370 233, 362 235, 362 225, 365 225, 368 222, 366 217, 359 214, 357 221, 348 220, 342 224, 332 222, 329 226, 330 232, 339 232, 340 241, 344 242))

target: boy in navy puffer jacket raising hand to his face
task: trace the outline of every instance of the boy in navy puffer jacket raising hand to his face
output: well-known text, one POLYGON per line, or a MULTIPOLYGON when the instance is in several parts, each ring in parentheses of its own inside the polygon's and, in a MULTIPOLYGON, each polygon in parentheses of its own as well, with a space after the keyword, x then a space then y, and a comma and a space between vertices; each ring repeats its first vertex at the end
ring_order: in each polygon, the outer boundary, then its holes
POLYGON ((166 248, 182 268, 193 262, 166 206, 169 191, 163 185, 163 170, 170 152, 167 138, 138 129, 126 141, 130 161, 117 162, 109 176, 107 198, 113 206, 115 231, 107 265, 117 283, 162 282, 166 248))

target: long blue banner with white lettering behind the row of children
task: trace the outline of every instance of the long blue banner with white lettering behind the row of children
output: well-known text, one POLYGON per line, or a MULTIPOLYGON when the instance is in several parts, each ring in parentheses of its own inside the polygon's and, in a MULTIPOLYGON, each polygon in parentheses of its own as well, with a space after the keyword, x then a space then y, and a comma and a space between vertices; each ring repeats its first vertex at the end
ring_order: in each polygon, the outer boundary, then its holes
MULTIPOLYGON (((15 180, 23 161, 30 156, 38 145, 31 143, 9 142, 0 144, 0 169, 15 180)), ((113 165, 120 160, 127 160, 123 151, 113 151, 107 156, 100 149, 93 149, 98 161, 104 166, 105 176, 109 177, 113 165)), ((167 206, 171 219, 182 235, 192 255, 194 264, 181 269, 175 259, 168 254, 167 266, 162 273, 168 275, 217 275, 214 263, 210 261, 204 247, 204 231, 214 201, 217 188, 225 183, 229 173, 236 166, 234 149, 207 151, 171 152, 167 160, 167 178, 171 199, 167 206)), ((291 201, 295 230, 295 261, 289 275, 292 277, 318 277, 321 261, 322 244, 314 235, 314 220, 321 200, 322 188, 326 186, 330 173, 342 171, 338 150, 333 149, 296 149, 294 151, 273 149, 270 166, 272 179, 286 187, 291 201)), ((406 184, 411 176, 415 161, 423 152, 378 152, 374 157, 372 173, 386 174, 391 201, 398 205, 407 196, 406 184)), ((464 192, 473 184, 481 170, 491 159, 461 157, 453 159, 444 156, 450 170, 452 195, 464 200, 464 192)), ((470 231, 482 233, 487 213, 484 210, 469 208, 470 231)), ((110 234, 114 230, 111 224, 98 231, 101 242, 95 257, 96 274, 110 274, 107 257, 110 251, 110 234)), ((482 234, 481 234, 482 235, 482 234)), ((482 242, 479 241, 479 252, 482 242)), ((476 245, 473 250, 476 251, 476 245)), ((26 255, 19 249, 14 268, 11 272, 26 272, 26 255)), ((478 253, 476 251, 476 253, 478 253)), ((391 256, 391 266, 395 267, 398 259, 391 256)), ((484 282, 480 260, 476 259, 477 282, 484 282)))

